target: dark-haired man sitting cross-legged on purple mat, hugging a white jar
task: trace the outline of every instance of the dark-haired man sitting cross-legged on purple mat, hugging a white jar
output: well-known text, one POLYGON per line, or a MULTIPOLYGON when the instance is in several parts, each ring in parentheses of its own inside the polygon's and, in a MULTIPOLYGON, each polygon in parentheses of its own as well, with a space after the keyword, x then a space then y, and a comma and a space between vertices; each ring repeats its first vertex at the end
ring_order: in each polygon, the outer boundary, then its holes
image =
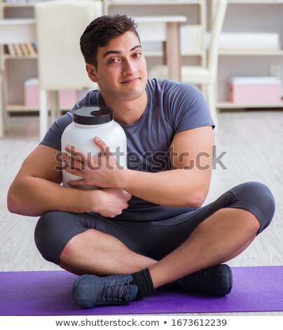
POLYGON ((214 145, 207 105, 193 86, 147 79, 131 18, 97 18, 83 32, 81 51, 88 76, 100 90, 90 91, 74 109, 113 109, 127 136, 128 168, 120 169, 104 141, 94 136, 102 156, 74 160, 79 150, 67 147, 61 158, 70 164, 67 171, 82 180, 69 182, 71 188, 60 185, 57 153, 73 109, 55 121, 23 162, 8 192, 9 210, 41 216, 36 246, 46 260, 81 275, 73 298, 85 308, 127 304, 167 284, 228 294, 232 274, 222 263, 269 225, 275 212, 270 190, 261 183, 242 183, 201 207, 214 145), (97 161, 101 168, 93 170, 90 165, 97 161), (101 189, 74 189, 83 185, 101 189))

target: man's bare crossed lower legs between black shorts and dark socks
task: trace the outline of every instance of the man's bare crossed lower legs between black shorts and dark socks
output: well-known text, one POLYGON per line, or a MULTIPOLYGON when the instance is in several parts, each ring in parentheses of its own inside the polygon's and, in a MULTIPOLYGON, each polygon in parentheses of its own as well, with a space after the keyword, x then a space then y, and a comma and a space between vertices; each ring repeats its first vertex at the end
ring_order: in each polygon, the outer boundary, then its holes
POLYGON ((99 276, 132 274, 149 268, 157 288, 234 258, 253 241, 259 227, 249 211, 221 209, 160 261, 134 253, 115 237, 90 229, 68 242, 61 253, 60 266, 78 275, 99 276))

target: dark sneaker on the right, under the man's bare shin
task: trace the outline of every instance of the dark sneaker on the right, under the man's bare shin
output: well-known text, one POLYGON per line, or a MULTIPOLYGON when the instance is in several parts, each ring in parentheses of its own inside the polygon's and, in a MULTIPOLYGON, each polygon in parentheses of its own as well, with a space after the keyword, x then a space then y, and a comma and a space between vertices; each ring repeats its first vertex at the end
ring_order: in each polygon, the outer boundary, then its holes
POLYGON ((194 272, 170 284, 186 292, 209 293, 214 296, 225 296, 232 289, 233 277, 228 265, 216 265, 194 272))

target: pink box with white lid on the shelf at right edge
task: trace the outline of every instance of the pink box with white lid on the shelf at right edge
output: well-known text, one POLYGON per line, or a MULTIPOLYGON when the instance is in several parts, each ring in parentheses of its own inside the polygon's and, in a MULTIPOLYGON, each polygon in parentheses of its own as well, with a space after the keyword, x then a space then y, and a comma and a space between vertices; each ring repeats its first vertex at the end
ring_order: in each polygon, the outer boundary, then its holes
POLYGON ((233 103, 277 103, 281 81, 277 77, 232 77, 229 101, 233 103))

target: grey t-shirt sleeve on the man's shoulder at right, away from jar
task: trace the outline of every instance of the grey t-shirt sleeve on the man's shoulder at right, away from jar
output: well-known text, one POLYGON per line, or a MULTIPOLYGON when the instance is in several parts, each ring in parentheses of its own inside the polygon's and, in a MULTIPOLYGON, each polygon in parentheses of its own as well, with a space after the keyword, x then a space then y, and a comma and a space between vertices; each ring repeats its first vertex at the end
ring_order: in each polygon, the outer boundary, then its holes
POLYGON ((202 126, 214 128, 205 98, 195 86, 174 82, 167 91, 165 102, 175 133, 202 126))

